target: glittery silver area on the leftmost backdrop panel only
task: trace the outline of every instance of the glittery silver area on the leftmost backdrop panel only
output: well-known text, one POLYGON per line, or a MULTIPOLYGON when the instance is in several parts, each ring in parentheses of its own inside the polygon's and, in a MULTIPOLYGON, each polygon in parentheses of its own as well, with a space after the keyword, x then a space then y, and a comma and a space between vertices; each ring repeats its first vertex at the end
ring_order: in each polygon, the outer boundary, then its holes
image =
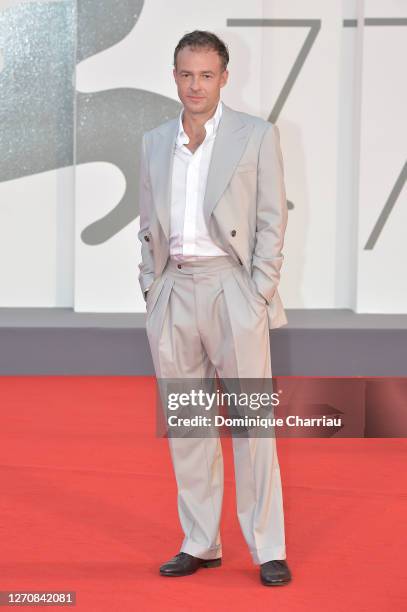
POLYGON ((72 164, 75 2, 0 11, 0 180, 72 164))

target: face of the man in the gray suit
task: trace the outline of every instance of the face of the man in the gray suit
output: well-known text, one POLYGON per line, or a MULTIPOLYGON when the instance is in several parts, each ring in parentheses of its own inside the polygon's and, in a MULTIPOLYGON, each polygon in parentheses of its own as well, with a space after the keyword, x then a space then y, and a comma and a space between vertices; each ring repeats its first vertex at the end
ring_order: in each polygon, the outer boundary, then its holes
POLYGON ((228 78, 222 60, 213 49, 184 47, 173 70, 178 96, 186 110, 205 114, 216 106, 228 78))

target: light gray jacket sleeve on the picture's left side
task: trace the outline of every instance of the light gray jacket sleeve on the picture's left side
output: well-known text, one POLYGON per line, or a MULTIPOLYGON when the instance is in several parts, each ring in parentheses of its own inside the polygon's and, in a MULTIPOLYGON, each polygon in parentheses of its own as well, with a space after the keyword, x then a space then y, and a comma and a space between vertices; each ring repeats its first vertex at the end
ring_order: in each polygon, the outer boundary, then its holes
POLYGON ((140 155, 140 173, 139 173, 139 211, 140 211, 140 231, 138 239, 141 242, 141 263, 139 264, 139 283, 141 291, 147 291, 154 280, 154 259, 152 250, 149 245, 150 241, 146 241, 145 237, 150 238, 150 215, 152 211, 152 192, 151 183, 148 174, 148 159, 145 143, 145 135, 143 135, 141 155, 140 155))

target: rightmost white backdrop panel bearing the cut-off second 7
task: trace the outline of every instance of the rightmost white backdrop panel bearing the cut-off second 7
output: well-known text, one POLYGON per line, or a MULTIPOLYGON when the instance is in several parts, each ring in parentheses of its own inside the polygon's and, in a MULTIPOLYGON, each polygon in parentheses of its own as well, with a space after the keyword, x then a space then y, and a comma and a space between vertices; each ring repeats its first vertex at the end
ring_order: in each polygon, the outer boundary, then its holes
POLYGON ((358 312, 399 313, 407 311, 407 23, 383 18, 406 17, 407 6, 369 0, 365 12, 378 21, 363 32, 355 303, 358 312))

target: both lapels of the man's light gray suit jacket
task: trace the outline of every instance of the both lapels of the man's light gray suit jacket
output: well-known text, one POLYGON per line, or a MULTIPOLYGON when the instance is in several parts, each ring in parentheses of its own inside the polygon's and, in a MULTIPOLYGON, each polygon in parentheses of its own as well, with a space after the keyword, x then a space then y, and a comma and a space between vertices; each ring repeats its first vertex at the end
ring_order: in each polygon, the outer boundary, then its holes
MULTIPOLYGON (((204 197, 204 217, 209 228, 213 209, 225 191, 234 169, 245 150, 251 124, 224 103, 212 157, 208 170, 204 197)), ((150 173, 157 217, 169 240, 171 183, 174 147, 178 134, 178 117, 158 130, 150 156, 150 173)))

